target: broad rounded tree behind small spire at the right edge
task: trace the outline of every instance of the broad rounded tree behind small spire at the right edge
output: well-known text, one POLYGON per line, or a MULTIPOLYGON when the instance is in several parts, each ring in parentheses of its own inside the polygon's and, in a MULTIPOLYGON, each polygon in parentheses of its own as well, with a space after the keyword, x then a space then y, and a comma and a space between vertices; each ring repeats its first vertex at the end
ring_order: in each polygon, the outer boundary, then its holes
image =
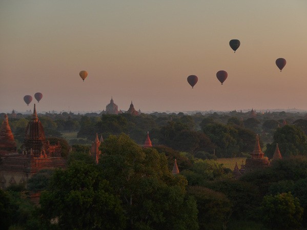
POLYGON ((267 144, 265 154, 268 157, 273 156, 276 143, 278 143, 280 153, 283 157, 307 155, 307 136, 297 126, 286 125, 276 130, 274 133, 274 142, 267 144))

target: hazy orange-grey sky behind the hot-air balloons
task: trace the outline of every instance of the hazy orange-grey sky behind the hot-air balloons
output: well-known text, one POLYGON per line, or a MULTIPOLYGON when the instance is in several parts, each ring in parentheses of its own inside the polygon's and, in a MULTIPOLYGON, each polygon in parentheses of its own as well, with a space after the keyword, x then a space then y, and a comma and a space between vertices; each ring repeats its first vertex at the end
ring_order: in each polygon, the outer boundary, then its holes
POLYGON ((0 0, 0 112, 307 109, 306 68, 306 0, 0 0))

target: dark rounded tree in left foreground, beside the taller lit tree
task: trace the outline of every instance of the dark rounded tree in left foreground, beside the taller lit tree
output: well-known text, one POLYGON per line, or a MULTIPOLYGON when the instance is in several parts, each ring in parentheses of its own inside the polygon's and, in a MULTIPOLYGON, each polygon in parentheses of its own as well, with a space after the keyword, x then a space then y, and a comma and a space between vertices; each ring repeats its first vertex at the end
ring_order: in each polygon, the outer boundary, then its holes
POLYGON ((48 191, 40 196, 45 224, 57 220, 59 229, 124 229, 119 199, 96 165, 81 161, 56 170, 48 191))

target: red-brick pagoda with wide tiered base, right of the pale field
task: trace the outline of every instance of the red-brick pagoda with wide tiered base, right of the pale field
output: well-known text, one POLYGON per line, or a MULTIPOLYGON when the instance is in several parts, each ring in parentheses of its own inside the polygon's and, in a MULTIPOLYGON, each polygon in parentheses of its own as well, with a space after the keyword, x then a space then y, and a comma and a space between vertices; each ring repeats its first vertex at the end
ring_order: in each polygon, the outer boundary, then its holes
POLYGON ((270 166, 268 157, 264 157, 264 153, 261 151, 259 136, 256 135, 256 143, 254 151, 251 153, 251 158, 246 159, 244 170, 249 172, 255 169, 263 169, 270 166))

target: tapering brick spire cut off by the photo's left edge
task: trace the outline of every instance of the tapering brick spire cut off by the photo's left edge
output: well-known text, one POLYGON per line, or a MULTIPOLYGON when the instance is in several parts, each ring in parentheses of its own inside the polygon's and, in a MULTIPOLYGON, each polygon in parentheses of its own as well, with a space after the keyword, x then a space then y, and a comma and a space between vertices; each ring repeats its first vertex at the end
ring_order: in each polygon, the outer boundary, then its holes
POLYGON ((16 152, 16 142, 11 131, 8 116, 4 115, 4 121, 0 128, 0 155, 16 152))

